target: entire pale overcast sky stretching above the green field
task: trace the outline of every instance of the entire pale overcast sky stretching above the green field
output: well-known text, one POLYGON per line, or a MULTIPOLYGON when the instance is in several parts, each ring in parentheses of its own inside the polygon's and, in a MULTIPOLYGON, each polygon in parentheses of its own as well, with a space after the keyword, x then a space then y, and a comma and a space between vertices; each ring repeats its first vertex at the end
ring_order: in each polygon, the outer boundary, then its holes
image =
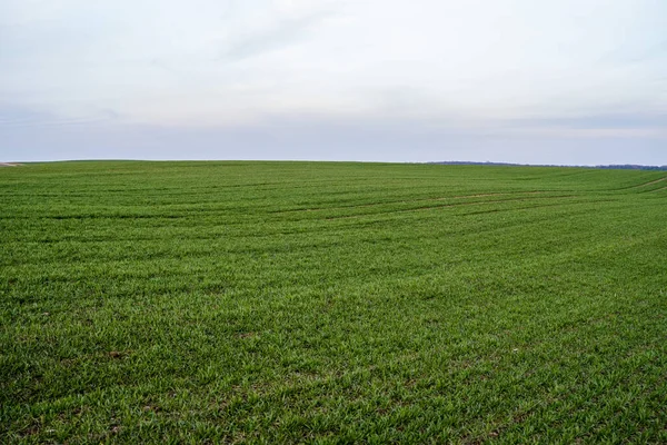
POLYGON ((665 0, 0 0, 0 160, 667 165, 665 0))

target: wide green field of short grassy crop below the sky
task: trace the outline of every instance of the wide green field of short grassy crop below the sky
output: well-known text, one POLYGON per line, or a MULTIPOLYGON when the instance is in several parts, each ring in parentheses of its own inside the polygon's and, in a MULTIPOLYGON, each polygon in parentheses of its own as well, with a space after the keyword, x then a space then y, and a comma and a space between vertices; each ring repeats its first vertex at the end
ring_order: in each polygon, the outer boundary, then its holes
POLYGON ((0 443, 667 443, 667 172, 0 169, 0 443))

